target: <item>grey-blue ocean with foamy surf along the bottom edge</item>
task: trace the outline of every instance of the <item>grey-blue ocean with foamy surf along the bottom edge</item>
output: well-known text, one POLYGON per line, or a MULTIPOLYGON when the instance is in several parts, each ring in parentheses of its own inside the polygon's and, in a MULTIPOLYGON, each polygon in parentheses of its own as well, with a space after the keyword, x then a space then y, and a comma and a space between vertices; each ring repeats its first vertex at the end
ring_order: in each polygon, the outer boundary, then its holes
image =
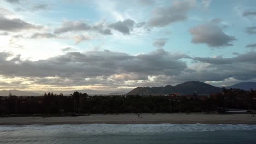
POLYGON ((0 143, 256 143, 247 124, 1 125, 0 143))

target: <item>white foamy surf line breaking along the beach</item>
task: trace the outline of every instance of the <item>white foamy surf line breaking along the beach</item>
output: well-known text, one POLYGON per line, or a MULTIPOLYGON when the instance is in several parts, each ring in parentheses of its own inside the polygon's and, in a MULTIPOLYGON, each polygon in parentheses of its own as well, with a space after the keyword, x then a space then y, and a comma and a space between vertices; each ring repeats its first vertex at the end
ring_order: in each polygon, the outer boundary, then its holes
POLYGON ((2 125, 0 136, 79 134, 143 134, 175 131, 256 130, 247 124, 78 124, 78 125, 2 125))

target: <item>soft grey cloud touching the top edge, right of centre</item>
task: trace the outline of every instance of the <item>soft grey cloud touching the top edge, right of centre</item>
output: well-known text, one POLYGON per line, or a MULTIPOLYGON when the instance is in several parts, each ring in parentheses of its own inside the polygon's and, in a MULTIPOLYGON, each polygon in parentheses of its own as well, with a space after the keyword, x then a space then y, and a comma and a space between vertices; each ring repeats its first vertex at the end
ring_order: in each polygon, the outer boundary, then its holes
POLYGON ((170 7, 158 7, 153 10, 153 16, 149 19, 150 27, 164 27, 173 22, 184 21, 187 14, 194 7, 196 1, 173 1, 170 7))

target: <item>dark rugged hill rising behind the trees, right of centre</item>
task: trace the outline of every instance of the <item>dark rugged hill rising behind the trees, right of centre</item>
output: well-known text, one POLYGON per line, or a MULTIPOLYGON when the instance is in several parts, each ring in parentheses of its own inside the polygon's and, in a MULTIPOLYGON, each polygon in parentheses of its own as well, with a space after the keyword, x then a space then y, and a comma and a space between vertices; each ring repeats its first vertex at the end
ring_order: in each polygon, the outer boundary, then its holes
POLYGON ((137 87, 126 95, 162 95, 170 93, 179 94, 210 94, 221 92, 222 89, 208 85, 199 81, 184 82, 176 86, 167 85, 165 87, 137 87))

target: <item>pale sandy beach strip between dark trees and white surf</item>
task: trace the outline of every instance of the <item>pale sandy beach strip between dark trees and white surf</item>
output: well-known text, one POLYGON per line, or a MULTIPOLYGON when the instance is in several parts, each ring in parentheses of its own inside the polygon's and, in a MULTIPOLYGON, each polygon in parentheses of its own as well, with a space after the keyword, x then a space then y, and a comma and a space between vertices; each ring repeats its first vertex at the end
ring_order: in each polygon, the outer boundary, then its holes
POLYGON ((138 118, 136 114, 119 115, 90 115, 79 117, 6 117, 0 118, 0 125, 25 125, 25 124, 256 124, 256 116, 250 114, 203 114, 203 113, 142 113, 138 118))

